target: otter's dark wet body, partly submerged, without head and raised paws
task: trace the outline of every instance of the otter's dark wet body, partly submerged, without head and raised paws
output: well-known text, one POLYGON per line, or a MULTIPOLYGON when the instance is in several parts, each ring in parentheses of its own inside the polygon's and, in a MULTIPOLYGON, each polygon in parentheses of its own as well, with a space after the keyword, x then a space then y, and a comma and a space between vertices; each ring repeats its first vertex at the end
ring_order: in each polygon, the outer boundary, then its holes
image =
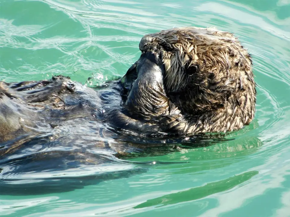
POLYGON ((123 129, 113 128, 112 122, 103 120, 113 120, 113 117, 106 117, 106 112, 112 115, 112 109, 121 110, 124 105, 127 90, 119 81, 109 81, 95 90, 63 76, 38 82, 2 82, 1 85, 1 194, 64 192, 100 181, 124 178, 146 172, 148 166, 153 165, 152 162, 136 164, 124 160, 165 155, 180 148, 209 146, 215 141, 225 140, 218 136, 146 136, 132 133, 130 129, 125 131, 125 126, 123 129), (79 127, 83 132, 76 132, 79 127), (59 134, 56 134, 57 130, 59 134), (43 171, 65 173, 67 169, 109 164, 137 166, 126 171, 79 178, 34 178, 32 180, 40 181, 35 183, 27 180, 19 184, 23 179, 17 178, 18 174, 41 174, 43 171), (5 171, 7 168, 13 169, 5 171))

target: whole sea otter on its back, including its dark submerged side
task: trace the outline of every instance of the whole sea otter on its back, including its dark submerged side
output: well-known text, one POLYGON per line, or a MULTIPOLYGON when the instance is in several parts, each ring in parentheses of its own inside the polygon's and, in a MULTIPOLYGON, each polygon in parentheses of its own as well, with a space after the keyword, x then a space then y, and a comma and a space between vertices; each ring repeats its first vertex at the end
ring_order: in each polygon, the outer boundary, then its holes
MULTIPOLYGON (((109 173, 110 163, 208 146, 207 133, 239 130, 253 120, 252 61, 233 34, 175 28, 144 36, 139 49, 124 77, 101 87, 62 75, 0 82, 2 193, 72 190, 80 187, 70 179, 78 171, 94 175, 83 184, 127 176, 124 165, 109 173)), ((134 174, 144 169, 133 168, 134 174)))

